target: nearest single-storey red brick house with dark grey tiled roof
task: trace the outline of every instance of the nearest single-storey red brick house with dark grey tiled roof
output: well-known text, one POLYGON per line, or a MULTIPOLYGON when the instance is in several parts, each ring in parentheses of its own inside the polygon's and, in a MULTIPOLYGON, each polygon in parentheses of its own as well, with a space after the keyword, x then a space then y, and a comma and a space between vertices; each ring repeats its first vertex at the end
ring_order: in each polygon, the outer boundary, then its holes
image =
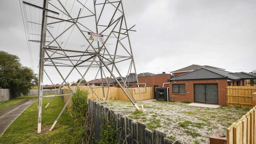
POLYGON ((216 68, 198 68, 171 78, 169 100, 227 105, 228 85, 245 85, 256 75, 246 72, 227 72, 216 68))

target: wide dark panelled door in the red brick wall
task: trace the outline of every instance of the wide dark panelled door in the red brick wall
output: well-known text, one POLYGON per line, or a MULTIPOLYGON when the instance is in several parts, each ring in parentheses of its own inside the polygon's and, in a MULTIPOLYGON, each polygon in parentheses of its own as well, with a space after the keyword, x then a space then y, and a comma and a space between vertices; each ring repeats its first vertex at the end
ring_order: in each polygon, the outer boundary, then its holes
POLYGON ((194 101, 218 104, 218 84, 194 84, 194 101))

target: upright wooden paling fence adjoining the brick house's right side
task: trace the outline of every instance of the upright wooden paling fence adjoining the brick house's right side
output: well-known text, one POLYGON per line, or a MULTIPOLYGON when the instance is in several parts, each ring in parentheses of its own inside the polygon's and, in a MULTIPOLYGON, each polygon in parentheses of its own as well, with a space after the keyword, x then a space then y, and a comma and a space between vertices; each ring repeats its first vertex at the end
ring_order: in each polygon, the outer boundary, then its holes
POLYGON ((252 94, 256 92, 256 86, 228 86, 228 106, 254 107, 256 103, 252 94))

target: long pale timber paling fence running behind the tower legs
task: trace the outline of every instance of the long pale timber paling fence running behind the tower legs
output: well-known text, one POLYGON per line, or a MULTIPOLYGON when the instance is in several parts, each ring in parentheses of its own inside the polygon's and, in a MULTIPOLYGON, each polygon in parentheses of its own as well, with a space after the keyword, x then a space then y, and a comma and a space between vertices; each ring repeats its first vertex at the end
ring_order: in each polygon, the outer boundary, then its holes
MULTIPOLYGON (((76 86, 70 86, 71 90, 74 90, 75 88, 76 88, 76 86)), ((93 91, 89 88, 89 86, 80 86, 80 88, 89 91, 88 98, 95 99, 95 100, 98 99, 96 97, 96 95, 93 93, 93 91)), ((101 100, 103 100, 102 87, 92 87, 92 88, 93 88, 94 92, 97 94, 97 96, 101 100)), ((142 100, 150 100, 150 99, 154 98, 152 87, 130 88, 129 90, 130 90, 131 94, 134 96, 134 99, 136 101, 140 100, 139 89, 141 91, 141 99, 142 100)), ((126 89, 126 92, 129 93, 128 92, 129 90, 126 89)), ((129 99, 124 94, 124 92, 122 91, 121 88, 109 87, 109 90, 108 90, 108 87, 104 87, 104 93, 105 93, 105 98, 106 98, 107 93, 108 93, 108 100, 111 99, 111 100, 129 101, 129 99)), ((67 87, 62 87, 61 88, 61 94, 70 94, 70 91, 67 87)), ((67 102, 68 99, 69 99, 69 95, 63 96, 64 102, 67 102)), ((70 107, 71 103, 72 103, 72 100, 70 100, 70 102, 68 104, 68 107, 70 107)))

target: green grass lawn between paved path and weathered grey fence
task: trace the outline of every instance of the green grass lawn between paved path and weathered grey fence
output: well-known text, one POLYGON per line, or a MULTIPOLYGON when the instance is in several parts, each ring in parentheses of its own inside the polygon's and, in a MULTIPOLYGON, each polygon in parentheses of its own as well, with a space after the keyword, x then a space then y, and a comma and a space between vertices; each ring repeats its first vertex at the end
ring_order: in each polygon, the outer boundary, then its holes
MULTIPOLYGON (((43 98, 43 107, 50 100, 43 98)), ((63 112, 54 129, 48 130, 64 106, 61 97, 55 97, 47 109, 43 108, 42 132, 37 134, 37 101, 26 109, 0 137, 0 144, 69 144, 74 143, 72 118, 67 109, 63 112), (45 130, 47 129, 47 130, 45 130)))

